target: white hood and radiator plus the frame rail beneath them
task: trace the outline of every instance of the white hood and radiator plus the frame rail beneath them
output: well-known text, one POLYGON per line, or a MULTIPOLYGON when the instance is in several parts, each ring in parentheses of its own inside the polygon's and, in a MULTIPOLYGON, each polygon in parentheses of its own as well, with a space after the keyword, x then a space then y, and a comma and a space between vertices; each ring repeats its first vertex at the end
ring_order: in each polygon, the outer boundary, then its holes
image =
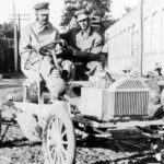
POLYGON ((142 78, 120 78, 108 89, 82 87, 80 99, 73 120, 86 127, 113 130, 163 125, 154 118, 157 108, 150 112, 150 89, 142 78))

